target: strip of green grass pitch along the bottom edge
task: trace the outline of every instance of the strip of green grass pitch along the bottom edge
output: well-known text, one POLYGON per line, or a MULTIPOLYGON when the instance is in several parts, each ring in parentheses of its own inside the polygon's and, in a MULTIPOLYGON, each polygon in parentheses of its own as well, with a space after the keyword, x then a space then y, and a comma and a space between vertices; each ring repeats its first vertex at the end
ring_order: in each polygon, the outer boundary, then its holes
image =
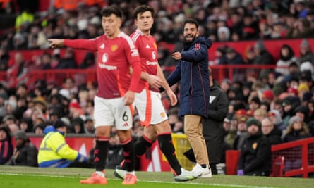
MULTIPOLYGON (((0 165, 1 188, 80 188, 80 187, 126 187, 122 180, 114 177, 113 170, 106 170, 107 185, 80 184, 79 181, 94 172, 87 168, 30 168, 0 165)), ((190 187, 313 187, 313 178, 291 177, 252 177, 236 175, 213 175, 212 178, 198 178, 188 182, 174 182, 170 172, 136 172, 140 188, 190 188, 190 187)))

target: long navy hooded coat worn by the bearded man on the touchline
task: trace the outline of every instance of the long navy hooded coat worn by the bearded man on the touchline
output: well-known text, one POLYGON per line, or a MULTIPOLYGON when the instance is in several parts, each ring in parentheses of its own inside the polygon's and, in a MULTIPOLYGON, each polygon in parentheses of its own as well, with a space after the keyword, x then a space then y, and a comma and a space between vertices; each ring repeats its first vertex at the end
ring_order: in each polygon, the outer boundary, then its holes
POLYGON ((212 42, 208 37, 197 37, 184 44, 181 60, 169 75, 169 86, 181 80, 179 115, 202 115, 207 118, 210 81, 208 73, 208 49, 212 42))

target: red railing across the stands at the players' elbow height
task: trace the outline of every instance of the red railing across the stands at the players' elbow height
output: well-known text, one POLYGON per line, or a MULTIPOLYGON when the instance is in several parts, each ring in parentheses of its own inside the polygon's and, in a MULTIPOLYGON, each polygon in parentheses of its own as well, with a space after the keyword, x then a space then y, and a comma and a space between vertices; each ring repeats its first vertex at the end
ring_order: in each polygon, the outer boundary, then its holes
MULTIPOLYGON (((165 75, 169 75, 174 66, 164 67, 165 75)), ((212 65, 212 75, 218 82, 225 78, 231 82, 233 80, 244 82, 250 78, 258 79, 260 71, 264 69, 273 70, 274 65, 212 65)), ((7 73, 0 71, 0 81, 6 82, 8 88, 16 87, 20 83, 25 83, 29 89, 37 80, 45 80, 49 83, 62 85, 66 77, 73 77, 76 84, 83 84, 87 82, 97 82, 97 75, 95 68, 90 69, 54 69, 54 70, 31 70, 25 72, 23 75, 17 76, 16 73, 7 73)))

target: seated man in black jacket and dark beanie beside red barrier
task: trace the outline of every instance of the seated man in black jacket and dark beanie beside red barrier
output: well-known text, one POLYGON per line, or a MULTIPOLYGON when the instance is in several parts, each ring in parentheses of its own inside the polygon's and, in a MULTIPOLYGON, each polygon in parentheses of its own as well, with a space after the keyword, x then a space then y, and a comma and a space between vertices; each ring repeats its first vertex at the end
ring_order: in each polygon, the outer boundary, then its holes
POLYGON ((248 138, 243 142, 238 161, 238 175, 270 175, 272 159, 271 145, 260 130, 260 122, 255 118, 246 121, 248 138))

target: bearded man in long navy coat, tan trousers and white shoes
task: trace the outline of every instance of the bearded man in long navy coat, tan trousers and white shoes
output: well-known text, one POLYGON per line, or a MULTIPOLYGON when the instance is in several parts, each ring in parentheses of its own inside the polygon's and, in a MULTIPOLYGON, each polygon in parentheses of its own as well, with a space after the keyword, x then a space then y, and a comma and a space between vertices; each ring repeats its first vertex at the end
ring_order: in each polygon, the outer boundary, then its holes
POLYGON ((179 115, 184 117, 184 132, 195 153, 197 164, 192 171, 211 177, 202 118, 208 115, 208 49, 212 42, 207 37, 198 37, 198 22, 194 19, 184 23, 183 36, 184 49, 172 54, 179 63, 167 82, 171 86, 181 80, 179 115))

